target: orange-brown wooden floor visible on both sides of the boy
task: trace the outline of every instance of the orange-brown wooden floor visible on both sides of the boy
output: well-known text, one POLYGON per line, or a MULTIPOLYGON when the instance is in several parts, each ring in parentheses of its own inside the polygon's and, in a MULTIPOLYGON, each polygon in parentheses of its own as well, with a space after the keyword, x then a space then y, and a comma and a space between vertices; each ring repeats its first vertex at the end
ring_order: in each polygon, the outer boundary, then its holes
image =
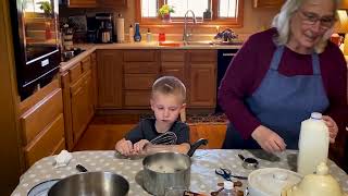
MULTIPOLYGON (((117 140, 123 138, 133 126, 139 122, 138 115, 99 115, 95 117, 74 151, 78 150, 112 150, 117 140)), ((203 148, 221 148, 225 137, 225 123, 194 123, 190 126, 190 140, 208 138, 203 148)))

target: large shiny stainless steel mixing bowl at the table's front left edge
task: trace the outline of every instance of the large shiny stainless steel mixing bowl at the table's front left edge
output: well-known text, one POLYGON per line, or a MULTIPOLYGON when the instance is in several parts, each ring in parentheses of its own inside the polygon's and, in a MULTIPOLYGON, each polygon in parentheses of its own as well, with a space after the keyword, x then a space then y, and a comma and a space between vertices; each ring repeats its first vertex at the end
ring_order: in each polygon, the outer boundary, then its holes
POLYGON ((60 180, 48 192, 48 196, 125 196, 129 183, 111 172, 78 173, 60 180))

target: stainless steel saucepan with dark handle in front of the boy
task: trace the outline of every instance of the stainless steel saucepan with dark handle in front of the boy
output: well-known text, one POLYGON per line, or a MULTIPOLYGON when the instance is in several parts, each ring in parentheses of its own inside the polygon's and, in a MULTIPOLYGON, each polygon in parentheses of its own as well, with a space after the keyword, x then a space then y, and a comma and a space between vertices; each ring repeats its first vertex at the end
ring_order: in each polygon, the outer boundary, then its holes
POLYGON ((191 159, 200 145, 207 139, 199 139, 191 145, 187 155, 178 152, 157 152, 142 160, 144 188, 152 195, 162 196, 170 187, 188 189, 190 182, 191 159))

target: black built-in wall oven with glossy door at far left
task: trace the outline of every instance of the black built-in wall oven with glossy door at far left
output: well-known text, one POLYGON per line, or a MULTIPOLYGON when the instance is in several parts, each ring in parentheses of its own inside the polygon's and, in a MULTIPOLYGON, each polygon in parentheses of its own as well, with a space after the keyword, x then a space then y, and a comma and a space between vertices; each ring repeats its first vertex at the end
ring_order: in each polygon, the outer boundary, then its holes
POLYGON ((13 46, 21 99, 59 71, 58 0, 11 0, 13 46))

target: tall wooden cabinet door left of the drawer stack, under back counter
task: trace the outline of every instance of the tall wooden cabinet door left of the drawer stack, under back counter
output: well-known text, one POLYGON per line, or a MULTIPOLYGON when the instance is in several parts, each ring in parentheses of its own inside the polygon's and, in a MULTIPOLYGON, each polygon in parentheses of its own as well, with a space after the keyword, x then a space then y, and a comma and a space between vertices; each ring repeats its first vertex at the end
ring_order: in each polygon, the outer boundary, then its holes
POLYGON ((121 109, 123 105, 123 52, 97 51, 97 108, 121 109))

